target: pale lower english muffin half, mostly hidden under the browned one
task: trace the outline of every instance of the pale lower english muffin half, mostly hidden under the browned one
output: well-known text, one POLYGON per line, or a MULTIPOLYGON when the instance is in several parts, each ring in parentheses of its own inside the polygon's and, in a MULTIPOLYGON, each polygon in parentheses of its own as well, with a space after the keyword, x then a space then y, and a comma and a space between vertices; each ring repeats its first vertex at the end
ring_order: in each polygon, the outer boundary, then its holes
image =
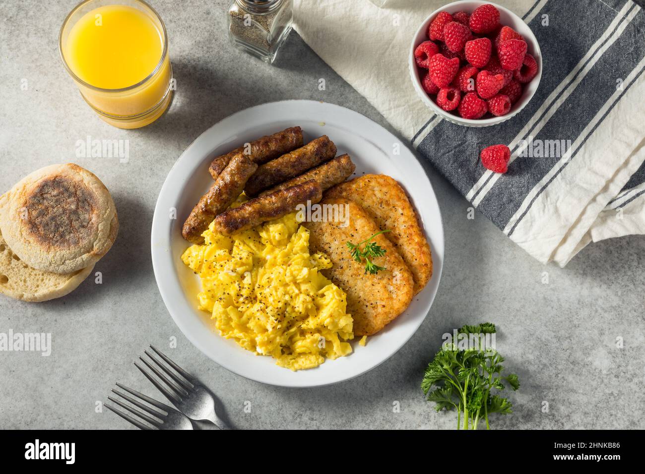
POLYGON ((42 272, 15 255, 0 235, 0 293, 22 301, 47 301, 70 293, 86 279, 94 264, 74 273, 42 272))

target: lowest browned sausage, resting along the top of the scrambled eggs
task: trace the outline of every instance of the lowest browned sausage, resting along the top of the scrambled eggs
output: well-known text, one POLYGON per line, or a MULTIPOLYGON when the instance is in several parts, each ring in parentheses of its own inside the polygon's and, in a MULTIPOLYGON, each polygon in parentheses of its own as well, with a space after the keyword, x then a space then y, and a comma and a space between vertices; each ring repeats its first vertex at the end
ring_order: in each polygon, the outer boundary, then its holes
POLYGON ((312 204, 323 199, 323 190, 317 181, 307 181, 290 188, 277 190, 246 201, 241 206, 224 211, 215 217, 214 230, 224 235, 252 229, 264 221, 278 219, 295 212, 298 204, 312 204))

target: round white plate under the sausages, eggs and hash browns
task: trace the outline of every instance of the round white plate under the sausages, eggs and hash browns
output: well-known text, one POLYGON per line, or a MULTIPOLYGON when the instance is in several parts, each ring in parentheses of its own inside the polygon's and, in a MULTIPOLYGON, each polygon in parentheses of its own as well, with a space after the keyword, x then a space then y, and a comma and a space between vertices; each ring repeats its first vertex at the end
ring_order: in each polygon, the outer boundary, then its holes
MULTIPOLYGON (((152 264, 161 297, 179 329, 195 347, 217 364, 247 379, 286 387, 314 387, 352 379, 388 359, 413 333, 430 311, 437 293, 444 254, 439 204, 421 164, 399 140, 367 117, 344 107, 317 101, 282 101, 248 108, 227 117, 202 133, 172 167, 159 193, 152 221, 152 264), (272 357, 254 355, 212 328, 208 313, 197 310, 200 283, 181 261, 189 246, 181 226, 195 202, 212 184, 208 165, 213 155, 290 126, 303 128, 305 143, 328 135, 338 154, 349 153, 356 174, 384 173, 399 181, 412 197, 432 246, 431 281, 410 307, 365 347, 353 343, 347 357, 326 360, 321 366, 293 372, 278 367, 272 357), (399 150, 398 154, 394 154, 399 150), (172 209, 177 219, 171 219, 172 209)), ((357 339, 355 339, 357 341, 357 339)))

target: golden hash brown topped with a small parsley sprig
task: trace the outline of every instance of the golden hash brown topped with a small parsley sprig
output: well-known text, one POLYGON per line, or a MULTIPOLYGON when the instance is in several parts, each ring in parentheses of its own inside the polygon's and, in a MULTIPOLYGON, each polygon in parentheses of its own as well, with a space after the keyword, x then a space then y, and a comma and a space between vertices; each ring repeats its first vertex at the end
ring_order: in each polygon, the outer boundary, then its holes
POLYGON ((386 253, 373 262, 384 266, 375 275, 365 273, 364 262, 352 259, 347 242, 358 244, 379 232, 359 204, 349 199, 326 199, 321 204, 348 206, 349 223, 303 222, 310 231, 310 251, 323 252, 333 267, 323 274, 347 293, 347 312, 354 320, 354 334, 372 335, 400 315, 410 304, 414 282, 401 255, 382 234, 373 239, 386 253))

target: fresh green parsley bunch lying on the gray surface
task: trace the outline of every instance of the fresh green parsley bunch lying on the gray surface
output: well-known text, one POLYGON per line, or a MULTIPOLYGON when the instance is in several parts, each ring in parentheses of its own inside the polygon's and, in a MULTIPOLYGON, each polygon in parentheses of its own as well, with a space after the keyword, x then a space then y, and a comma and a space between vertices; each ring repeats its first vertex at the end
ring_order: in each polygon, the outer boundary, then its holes
MULTIPOLYGON (((495 324, 485 322, 477 326, 462 326, 457 335, 495 333, 495 324)), ((483 341, 475 338, 477 345, 460 349, 457 341, 444 344, 434 360, 428 364, 421 382, 427 399, 435 402, 435 410, 457 410, 457 430, 477 430, 479 422, 491 413, 511 413, 511 402, 493 393, 506 388, 507 382, 517 390, 520 382, 511 373, 502 376, 504 357, 497 351, 484 348, 483 341), (463 422, 462 422, 463 419, 463 422)))

